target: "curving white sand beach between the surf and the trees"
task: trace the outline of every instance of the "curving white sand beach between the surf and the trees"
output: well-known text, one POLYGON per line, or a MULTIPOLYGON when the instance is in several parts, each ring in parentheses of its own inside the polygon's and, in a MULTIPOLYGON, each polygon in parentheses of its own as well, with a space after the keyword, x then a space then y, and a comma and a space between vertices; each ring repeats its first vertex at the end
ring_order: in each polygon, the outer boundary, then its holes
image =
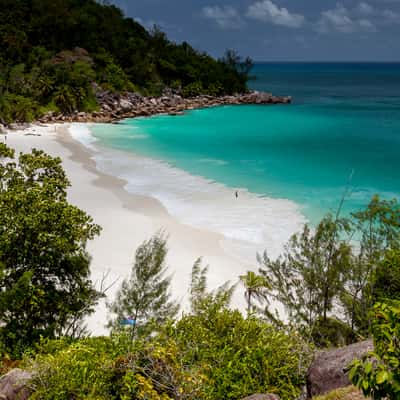
MULTIPOLYGON (((250 246, 247 252, 236 252, 235 240, 182 223, 171 216, 159 200, 127 192, 124 180, 96 168, 90 148, 74 140, 70 130, 71 125, 32 126, 27 130, 10 131, 7 144, 17 152, 43 149, 63 160, 71 181, 70 202, 85 210, 102 227, 101 235, 89 243, 88 251, 92 256, 93 281, 99 284, 105 274, 108 274, 107 283, 117 281, 107 292, 108 299, 114 297, 122 279, 129 276, 135 249, 160 230, 168 235, 167 264, 172 274, 172 295, 180 302, 182 310, 187 307, 191 268, 198 257, 203 258, 204 265, 210 266, 210 288, 228 280, 238 282, 239 275, 249 269, 257 270, 254 247, 250 246)), ((277 251, 285 238, 270 245, 277 251)), ((238 285, 233 298, 233 306, 240 309, 245 305, 243 292, 243 287, 238 285)), ((107 332, 104 301, 87 323, 95 335, 107 332)))

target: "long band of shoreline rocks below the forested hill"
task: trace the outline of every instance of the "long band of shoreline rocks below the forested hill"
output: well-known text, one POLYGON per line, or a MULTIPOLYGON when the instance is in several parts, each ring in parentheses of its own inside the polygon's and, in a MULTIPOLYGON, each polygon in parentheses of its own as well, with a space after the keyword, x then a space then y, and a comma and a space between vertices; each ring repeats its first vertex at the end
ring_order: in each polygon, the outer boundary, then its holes
POLYGON ((123 95, 104 91, 94 84, 100 110, 92 113, 75 112, 71 115, 49 112, 38 120, 47 122, 115 122, 124 118, 156 114, 182 115, 186 110, 238 104, 288 104, 291 97, 273 96, 271 93, 250 92, 234 96, 197 96, 184 98, 167 92, 160 97, 145 97, 138 93, 123 95))

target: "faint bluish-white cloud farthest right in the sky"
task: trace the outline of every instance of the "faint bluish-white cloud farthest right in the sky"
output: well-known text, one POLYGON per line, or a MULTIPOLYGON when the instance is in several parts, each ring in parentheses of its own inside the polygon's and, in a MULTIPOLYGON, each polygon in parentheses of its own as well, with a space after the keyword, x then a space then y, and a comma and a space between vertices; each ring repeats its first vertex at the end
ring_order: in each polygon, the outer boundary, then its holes
POLYGON ((316 29, 321 33, 340 32, 376 32, 376 26, 366 18, 356 18, 352 13, 338 3, 336 8, 321 13, 316 29))

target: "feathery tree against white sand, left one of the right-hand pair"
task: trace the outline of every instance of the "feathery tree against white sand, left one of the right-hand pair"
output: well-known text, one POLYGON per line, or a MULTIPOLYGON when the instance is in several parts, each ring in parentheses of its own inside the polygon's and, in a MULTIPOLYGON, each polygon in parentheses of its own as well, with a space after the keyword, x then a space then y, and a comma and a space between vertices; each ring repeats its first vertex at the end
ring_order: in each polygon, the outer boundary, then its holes
POLYGON ((318 319, 327 321, 342 289, 351 255, 350 246, 341 239, 347 229, 346 221, 328 215, 315 231, 305 225, 301 234, 293 235, 277 260, 266 252, 258 257, 264 267, 260 272, 271 285, 270 295, 285 306, 291 321, 310 331, 318 319))

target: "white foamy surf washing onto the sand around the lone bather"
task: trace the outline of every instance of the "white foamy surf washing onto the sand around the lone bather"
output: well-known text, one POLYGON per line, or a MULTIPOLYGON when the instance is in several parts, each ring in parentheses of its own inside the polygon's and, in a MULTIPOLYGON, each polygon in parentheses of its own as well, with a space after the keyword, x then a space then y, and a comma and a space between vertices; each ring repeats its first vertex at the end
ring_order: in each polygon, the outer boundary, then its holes
POLYGON ((221 245, 244 261, 254 262, 256 253, 264 250, 278 256, 306 222, 292 201, 261 197, 162 160, 106 148, 91 137, 87 125, 73 124, 71 135, 92 150, 100 171, 125 180, 127 191, 159 200, 184 224, 223 235, 221 245))

